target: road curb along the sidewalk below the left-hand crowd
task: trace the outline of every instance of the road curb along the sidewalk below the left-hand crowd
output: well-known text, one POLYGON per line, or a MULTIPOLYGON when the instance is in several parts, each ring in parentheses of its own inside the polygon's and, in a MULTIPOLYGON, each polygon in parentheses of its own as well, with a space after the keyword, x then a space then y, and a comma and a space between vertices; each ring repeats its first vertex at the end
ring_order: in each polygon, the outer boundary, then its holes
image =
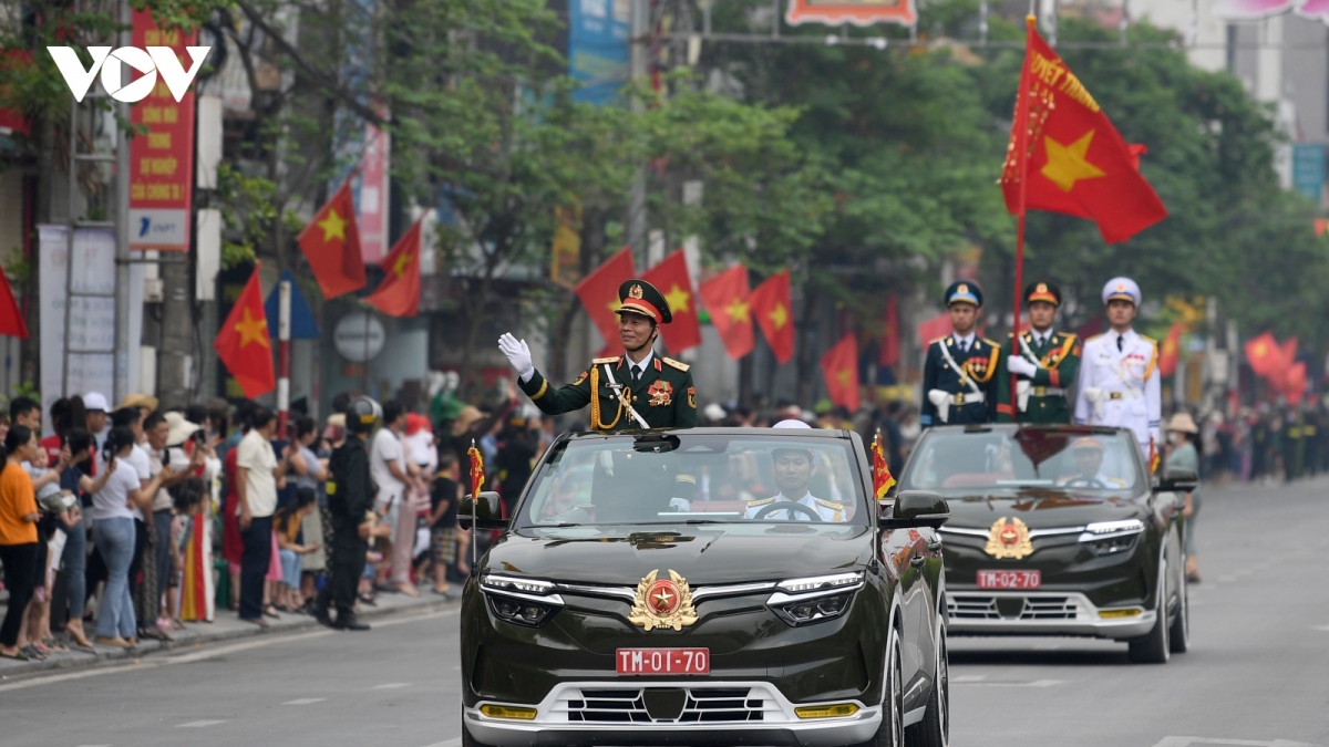
MULTIPOLYGON (((360 610, 359 617, 361 618, 389 618, 411 613, 431 613, 440 611, 449 607, 456 607, 461 603, 461 599, 443 599, 443 601, 421 601, 419 603, 400 603, 383 607, 365 607, 360 610)), ((229 613, 229 610, 227 610, 229 613)), ((303 630, 323 629, 322 625, 312 617, 307 615, 292 615, 287 614, 279 621, 270 623, 268 627, 258 627, 246 625, 246 627, 227 629, 227 630, 207 630, 211 623, 206 622, 191 622, 189 623, 189 631, 199 631, 198 634, 189 635, 187 638, 175 638, 174 641, 141 641, 138 647, 129 651, 121 649, 110 649, 105 646, 98 646, 96 651, 86 651, 82 649, 70 649, 69 654, 58 654, 44 662, 31 661, 31 662, 8 662, 3 669, 0 669, 0 682, 11 681, 19 677, 25 677, 31 674, 45 674, 56 671, 70 671, 80 669, 97 669, 101 666, 132 662, 136 659, 145 658, 150 654, 170 653, 170 651, 185 651, 189 649, 197 649, 203 643, 218 643, 222 641, 237 641, 241 638, 256 638, 260 635, 278 635, 284 633, 298 633, 303 630)), ((371 631, 372 633, 372 631, 371 631)), ((179 634, 177 634, 179 635, 179 634)))

